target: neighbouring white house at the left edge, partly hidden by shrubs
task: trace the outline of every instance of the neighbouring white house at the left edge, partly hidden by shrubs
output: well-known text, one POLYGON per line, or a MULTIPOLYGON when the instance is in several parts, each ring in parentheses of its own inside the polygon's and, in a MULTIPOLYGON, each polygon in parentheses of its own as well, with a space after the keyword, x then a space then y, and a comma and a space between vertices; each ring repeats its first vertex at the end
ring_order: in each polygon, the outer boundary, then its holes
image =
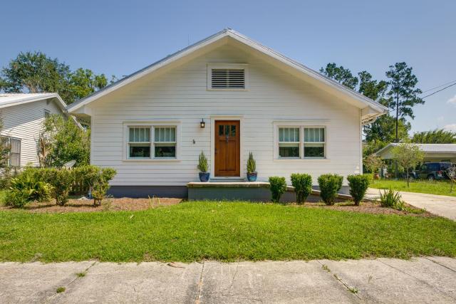
POLYGON ((0 93, 0 117, 10 146, 9 165, 39 166, 38 139, 46 116, 63 115, 66 104, 56 93, 0 93))

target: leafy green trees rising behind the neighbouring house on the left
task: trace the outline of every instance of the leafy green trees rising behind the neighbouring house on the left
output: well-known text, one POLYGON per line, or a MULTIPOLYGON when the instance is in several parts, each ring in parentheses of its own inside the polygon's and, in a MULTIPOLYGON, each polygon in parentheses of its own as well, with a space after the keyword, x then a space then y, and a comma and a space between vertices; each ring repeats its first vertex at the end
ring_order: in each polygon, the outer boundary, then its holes
POLYGON ((0 88, 6 92, 56 92, 68 104, 108 84, 104 74, 83 68, 72 72, 65 63, 41 52, 21 52, 1 72, 0 88))

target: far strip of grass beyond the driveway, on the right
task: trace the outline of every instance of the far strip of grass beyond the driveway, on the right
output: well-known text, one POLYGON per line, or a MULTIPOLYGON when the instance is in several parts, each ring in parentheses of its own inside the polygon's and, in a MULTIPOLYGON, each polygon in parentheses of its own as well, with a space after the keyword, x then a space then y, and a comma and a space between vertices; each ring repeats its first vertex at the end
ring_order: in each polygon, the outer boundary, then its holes
POLYGON ((453 185, 453 190, 451 192, 451 183, 449 181, 428 182, 427 180, 418 180, 410 182, 410 187, 407 187, 407 182, 405 180, 380 179, 374 180, 369 187, 376 189, 391 188, 396 191, 456 196, 456 184, 453 185))

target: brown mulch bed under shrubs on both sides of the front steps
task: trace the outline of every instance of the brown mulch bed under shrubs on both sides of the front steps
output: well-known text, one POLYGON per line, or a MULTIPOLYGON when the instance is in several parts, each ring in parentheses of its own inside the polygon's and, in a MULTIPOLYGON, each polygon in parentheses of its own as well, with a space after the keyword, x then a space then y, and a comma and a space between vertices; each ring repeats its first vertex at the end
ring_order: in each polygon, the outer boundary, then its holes
MULTIPOLYGON (((93 200, 88 199, 70 199, 65 206, 58 206, 55 202, 27 204, 24 210, 32 213, 66 213, 66 212, 93 212, 93 211, 139 211, 152 209, 157 206, 172 206, 179 204, 182 199, 160 198, 160 199, 131 199, 123 197, 121 199, 105 199, 100 206, 94 206, 93 200)), ((252 203, 254 204, 254 203, 252 203)), ((383 208, 378 203, 372 201, 363 201, 361 206, 355 206, 353 202, 338 202, 333 206, 326 206, 321 202, 306 202, 303 205, 290 204, 296 208, 321 208, 339 211, 360 212, 368 214, 398 214, 410 216, 435 216, 427 211, 420 211, 414 206, 407 205, 408 208, 417 211, 417 213, 408 211, 399 211, 390 208, 383 208), (420 211, 420 212, 419 212, 420 211)), ((0 206, 0 211, 17 210, 9 206, 0 206)))

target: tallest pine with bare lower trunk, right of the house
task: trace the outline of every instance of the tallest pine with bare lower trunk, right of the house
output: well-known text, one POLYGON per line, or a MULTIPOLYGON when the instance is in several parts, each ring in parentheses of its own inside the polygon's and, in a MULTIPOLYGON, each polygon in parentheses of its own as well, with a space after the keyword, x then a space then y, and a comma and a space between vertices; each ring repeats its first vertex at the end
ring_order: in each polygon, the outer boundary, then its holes
POLYGON ((395 110, 395 142, 399 142, 399 119, 410 117, 413 115, 413 106, 425 103, 418 97, 423 93, 419 88, 415 88, 418 84, 418 78, 412 73, 413 68, 408 67, 407 63, 395 63, 390 65, 390 70, 386 72, 386 77, 389 78, 388 85, 390 87, 387 93, 388 107, 395 110))

